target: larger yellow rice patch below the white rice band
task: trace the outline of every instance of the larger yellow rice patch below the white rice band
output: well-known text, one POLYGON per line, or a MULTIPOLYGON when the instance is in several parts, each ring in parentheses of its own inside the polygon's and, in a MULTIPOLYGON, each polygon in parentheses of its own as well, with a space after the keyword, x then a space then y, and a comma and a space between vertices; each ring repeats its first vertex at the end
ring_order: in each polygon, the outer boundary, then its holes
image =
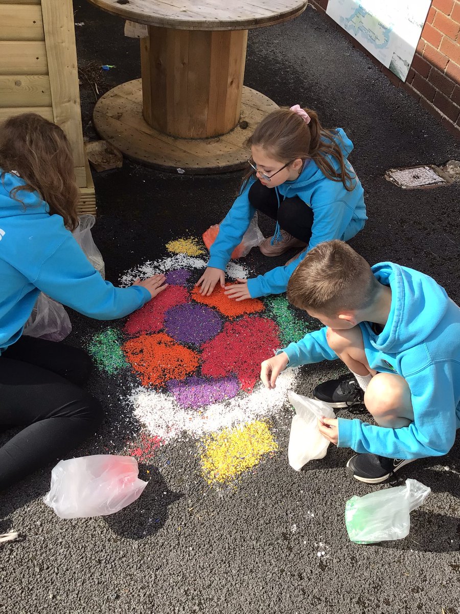
POLYGON ((228 483, 255 467, 278 444, 266 422, 254 421, 212 433, 204 439, 202 472, 208 484, 228 483))

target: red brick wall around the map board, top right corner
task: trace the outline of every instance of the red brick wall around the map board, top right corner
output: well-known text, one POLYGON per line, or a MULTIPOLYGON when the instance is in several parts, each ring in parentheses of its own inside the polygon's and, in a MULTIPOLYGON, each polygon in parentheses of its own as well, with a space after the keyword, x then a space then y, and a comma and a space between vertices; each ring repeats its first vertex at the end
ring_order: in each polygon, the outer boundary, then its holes
MULTIPOLYGON (((309 0, 309 3, 324 13, 328 1, 309 0)), ((331 23, 340 28, 335 21, 331 23)), ((408 91, 460 138, 460 0, 432 0, 405 83, 347 32, 341 31, 355 47, 369 55, 396 87, 408 91)))

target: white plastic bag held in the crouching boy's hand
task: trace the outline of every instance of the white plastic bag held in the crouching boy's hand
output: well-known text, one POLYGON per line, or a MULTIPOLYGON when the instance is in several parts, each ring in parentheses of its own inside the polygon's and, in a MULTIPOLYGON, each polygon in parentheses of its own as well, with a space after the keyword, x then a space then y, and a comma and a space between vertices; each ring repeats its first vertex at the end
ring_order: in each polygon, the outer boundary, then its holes
POLYGON ((326 456, 329 441, 318 430, 318 418, 335 418, 335 414, 322 401, 292 391, 289 391, 288 398, 296 410, 289 435, 288 460, 293 469, 300 471, 305 463, 326 456))

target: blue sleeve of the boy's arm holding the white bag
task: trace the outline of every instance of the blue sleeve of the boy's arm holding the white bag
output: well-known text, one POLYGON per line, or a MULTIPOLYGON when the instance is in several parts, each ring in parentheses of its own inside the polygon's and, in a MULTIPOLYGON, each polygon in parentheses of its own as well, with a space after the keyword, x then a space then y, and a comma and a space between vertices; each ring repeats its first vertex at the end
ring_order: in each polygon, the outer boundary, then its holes
POLYGON ((438 362, 407 376, 414 421, 402 429, 339 418, 339 448, 387 458, 418 459, 450 451, 456 434, 451 363, 438 362))

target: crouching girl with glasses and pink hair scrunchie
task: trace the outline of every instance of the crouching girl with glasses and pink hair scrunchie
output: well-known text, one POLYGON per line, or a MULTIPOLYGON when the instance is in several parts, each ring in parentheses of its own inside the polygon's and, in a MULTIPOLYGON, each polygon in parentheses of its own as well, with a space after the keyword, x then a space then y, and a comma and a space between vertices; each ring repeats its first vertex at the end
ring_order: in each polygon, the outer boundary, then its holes
POLYGON ((285 292, 291 273, 310 249, 331 239, 348 241, 367 220, 364 190, 348 161, 353 143, 342 128, 324 130, 315 111, 296 104, 270 113, 247 146, 249 171, 220 225, 197 286, 204 295, 217 283, 224 287, 230 255, 256 210, 276 222, 274 235, 259 246, 264 255, 302 251, 284 266, 227 286, 226 295, 237 301, 285 292))

